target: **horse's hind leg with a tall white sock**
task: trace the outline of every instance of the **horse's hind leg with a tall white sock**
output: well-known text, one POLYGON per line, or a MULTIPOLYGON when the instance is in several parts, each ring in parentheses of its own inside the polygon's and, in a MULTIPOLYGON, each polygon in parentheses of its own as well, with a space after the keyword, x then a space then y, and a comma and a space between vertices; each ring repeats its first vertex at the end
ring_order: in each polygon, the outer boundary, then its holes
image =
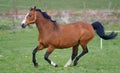
POLYGON ((75 59, 75 57, 78 54, 78 45, 73 46, 73 51, 72 51, 72 56, 70 57, 70 59, 68 60, 68 62, 65 64, 64 67, 68 67, 70 66, 70 64, 72 63, 72 61, 75 59))

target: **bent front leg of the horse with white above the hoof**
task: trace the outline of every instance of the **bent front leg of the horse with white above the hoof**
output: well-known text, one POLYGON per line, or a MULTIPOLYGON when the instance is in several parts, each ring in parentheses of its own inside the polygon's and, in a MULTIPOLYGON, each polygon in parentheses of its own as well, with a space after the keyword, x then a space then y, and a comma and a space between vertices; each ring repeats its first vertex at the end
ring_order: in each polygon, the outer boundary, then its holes
POLYGON ((44 59, 51 65, 53 65, 54 67, 57 67, 58 65, 56 63, 54 63, 53 61, 51 61, 50 59, 48 59, 49 55, 54 51, 54 47, 53 46, 48 46, 48 49, 44 55, 44 59))

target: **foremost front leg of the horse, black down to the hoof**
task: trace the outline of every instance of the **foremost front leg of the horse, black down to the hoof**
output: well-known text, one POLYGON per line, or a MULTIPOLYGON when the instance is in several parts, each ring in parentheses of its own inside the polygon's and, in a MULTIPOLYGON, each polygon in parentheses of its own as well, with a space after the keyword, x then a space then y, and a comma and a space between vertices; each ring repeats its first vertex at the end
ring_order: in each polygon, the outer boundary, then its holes
POLYGON ((36 62, 36 53, 38 50, 42 50, 43 48, 44 48, 44 46, 42 44, 40 44, 32 52, 32 62, 33 62, 35 67, 38 67, 38 63, 36 62))

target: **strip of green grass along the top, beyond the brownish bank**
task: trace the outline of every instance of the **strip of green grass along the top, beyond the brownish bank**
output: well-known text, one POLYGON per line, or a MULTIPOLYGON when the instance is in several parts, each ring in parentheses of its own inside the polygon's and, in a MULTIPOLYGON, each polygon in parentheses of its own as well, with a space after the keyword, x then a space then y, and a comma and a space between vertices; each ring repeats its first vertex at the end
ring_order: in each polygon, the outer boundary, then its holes
POLYGON ((28 9, 34 5, 43 10, 119 10, 120 0, 0 0, 1 12, 28 9))

